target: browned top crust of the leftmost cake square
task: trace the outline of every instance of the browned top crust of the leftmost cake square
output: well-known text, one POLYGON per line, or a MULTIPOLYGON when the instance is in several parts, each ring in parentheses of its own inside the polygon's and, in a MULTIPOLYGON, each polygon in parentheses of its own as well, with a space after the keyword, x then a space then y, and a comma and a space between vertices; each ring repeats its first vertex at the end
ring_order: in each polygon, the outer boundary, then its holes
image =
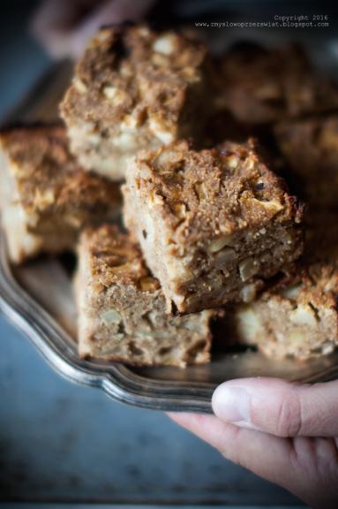
POLYGON ((0 133, 0 144, 28 212, 94 215, 120 200, 116 185, 81 169, 62 125, 10 129, 0 133))

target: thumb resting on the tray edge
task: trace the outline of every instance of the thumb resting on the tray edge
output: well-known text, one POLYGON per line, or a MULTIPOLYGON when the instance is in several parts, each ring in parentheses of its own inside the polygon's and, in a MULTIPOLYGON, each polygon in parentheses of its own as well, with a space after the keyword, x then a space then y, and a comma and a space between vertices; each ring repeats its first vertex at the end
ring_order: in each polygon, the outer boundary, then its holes
POLYGON ((212 405, 222 421, 276 437, 338 437, 338 382, 231 380, 216 388, 212 405))

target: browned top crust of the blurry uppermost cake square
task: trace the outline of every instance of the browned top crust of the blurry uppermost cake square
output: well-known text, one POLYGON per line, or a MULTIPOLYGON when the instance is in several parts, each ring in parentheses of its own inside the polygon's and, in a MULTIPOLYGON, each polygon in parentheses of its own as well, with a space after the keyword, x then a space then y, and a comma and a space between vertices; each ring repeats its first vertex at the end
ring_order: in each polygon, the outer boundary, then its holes
POLYGON ((186 88, 201 80, 206 49, 184 34, 147 27, 106 27, 89 43, 62 104, 64 118, 100 125, 132 115, 174 126, 186 88))

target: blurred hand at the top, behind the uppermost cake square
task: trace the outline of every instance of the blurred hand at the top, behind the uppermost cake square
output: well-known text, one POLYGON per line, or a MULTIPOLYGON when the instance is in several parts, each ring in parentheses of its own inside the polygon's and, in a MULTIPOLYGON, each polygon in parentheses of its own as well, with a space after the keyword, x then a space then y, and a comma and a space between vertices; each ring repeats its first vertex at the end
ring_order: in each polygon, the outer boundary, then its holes
POLYGON ((31 29, 52 57, 79 58, 101 26, 140 21, 153 4, 154 0, 44 0, 31 29))

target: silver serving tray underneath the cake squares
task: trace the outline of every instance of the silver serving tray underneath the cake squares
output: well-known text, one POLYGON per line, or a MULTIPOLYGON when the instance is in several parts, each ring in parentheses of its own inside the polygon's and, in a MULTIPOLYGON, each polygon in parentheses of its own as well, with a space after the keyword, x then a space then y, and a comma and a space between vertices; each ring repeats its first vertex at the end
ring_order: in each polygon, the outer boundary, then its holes
MULTIPOLYGON (((327 53, 326 53, 327 54, 327 53)), ((70 65, 57 65, 11 117, 11 121, 46 121, 56 117, 56 103, 70 79, 70 65)), ((218 333, 219 351, 205 366, 131 368, 79 358, 76 311, 71 277, 57 258, 40 258, 13 268, 0 228, 0 311, 30 338, 61 375, 72 382, 101 388, 133 406, 162 411, 211 412, 217 384, 244 376, 278 376, 314 383, 338 377, 338 352, 311 361, 274 361, 251 350, 226 348, 218 333), (222 346, 223 345, 223 346, 222 346)))

